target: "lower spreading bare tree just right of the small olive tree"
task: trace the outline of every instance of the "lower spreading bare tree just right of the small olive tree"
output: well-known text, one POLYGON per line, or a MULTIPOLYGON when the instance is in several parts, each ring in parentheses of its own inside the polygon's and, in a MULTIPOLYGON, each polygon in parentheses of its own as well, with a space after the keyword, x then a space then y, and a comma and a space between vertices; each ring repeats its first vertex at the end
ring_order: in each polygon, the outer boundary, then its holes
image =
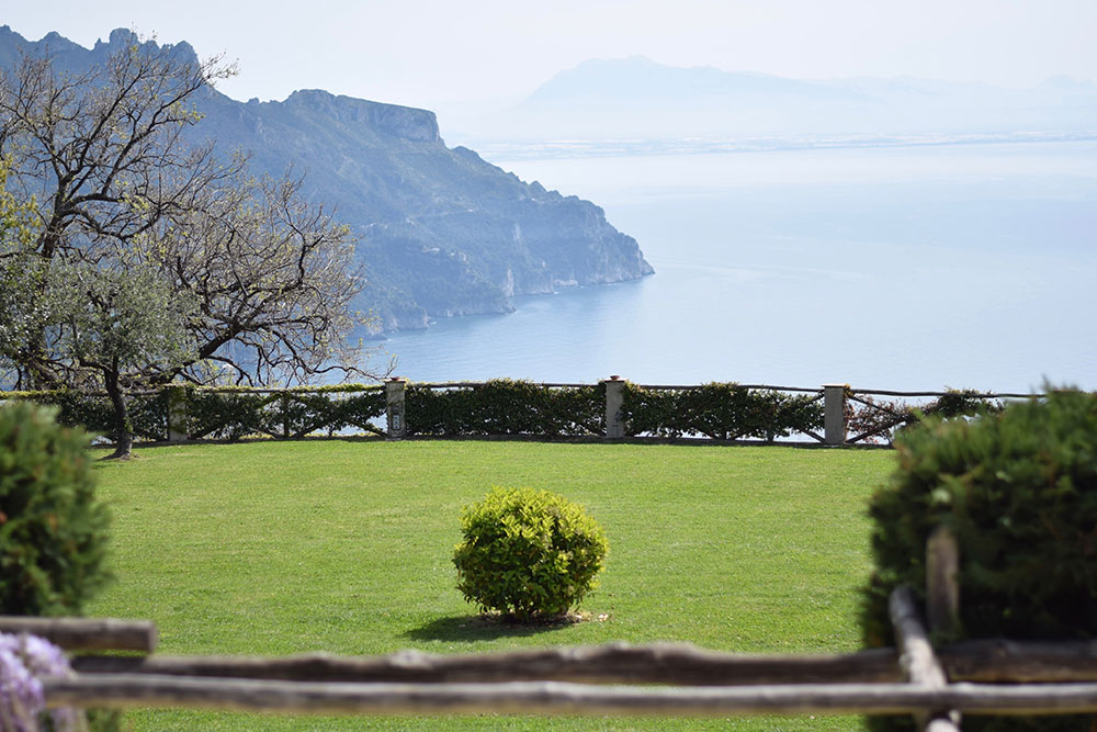
POLYGON ((364 284, 355 240, 299 191, 290 174, 256 180, 240 172, 143 237, 144 259, 199 303, 195 356, 177 370, 184 379, 255 385, 331 372, 378 375, 347 339, 367 323, 352 309, 364 284))

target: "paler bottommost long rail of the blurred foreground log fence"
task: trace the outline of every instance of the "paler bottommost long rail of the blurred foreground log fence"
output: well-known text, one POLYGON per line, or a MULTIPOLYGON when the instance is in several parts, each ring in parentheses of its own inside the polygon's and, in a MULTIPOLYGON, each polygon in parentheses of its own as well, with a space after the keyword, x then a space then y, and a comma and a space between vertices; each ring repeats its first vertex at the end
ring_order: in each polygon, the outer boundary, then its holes
POLYGON ((794 684, 753 687, 592 687, 562 682, 347 684, 94 674, 46 678, 48 707, 199 707, 308 713, 974 714, 1097 711, 1097 684, 794 684))

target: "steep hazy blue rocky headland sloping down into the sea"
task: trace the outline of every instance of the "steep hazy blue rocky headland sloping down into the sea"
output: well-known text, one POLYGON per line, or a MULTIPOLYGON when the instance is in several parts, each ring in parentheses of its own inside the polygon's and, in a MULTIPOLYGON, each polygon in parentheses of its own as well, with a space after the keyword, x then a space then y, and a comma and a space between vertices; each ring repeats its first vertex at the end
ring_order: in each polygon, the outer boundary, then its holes
MULTIPOLYGON (((48 47, 59 66, 77 70, 131 38, 114 31, 89 50, 56 34, 29 43, 3 26, 0 65, 48 47)), ((173 49, 194 55, 185 43, 173 49)), ((212 137, 225 155, 247 151, 256 172, 281 176, 292 167, 306 176, 314 200, 357 230, 369 279, 362 306, 385 329, 508 312, 514 295, 653 272, 635 239, 601 209, 525 183, 470 149, 448 148, 432 112, 319 90, 244 103, 210 89, 196 105, 205 116, 188 131, 191 139, 212 137)))

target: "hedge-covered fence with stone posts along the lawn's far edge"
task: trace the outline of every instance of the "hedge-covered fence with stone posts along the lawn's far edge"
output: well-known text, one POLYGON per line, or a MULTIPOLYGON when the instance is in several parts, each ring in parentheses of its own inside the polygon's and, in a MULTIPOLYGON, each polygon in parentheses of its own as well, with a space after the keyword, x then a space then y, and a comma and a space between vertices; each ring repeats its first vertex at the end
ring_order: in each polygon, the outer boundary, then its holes
MULTIPOLYGON (((135 438, 178 442, 246 437, 292 439, 353 431, 409 436, 546 438, 807 438, 823 444, 890 442, 920 414, 946 417, 1002 408, 1003 398, 1040 395, 974 391, 885 392, 847 384, 822 387, 734 382, 641 385, 611 378, 597 384, 530 381, 339 384, 296 388, 167 386, 129 396, 135 438)), ((105 395, 7 392, 59 408, 58 420, 113 439, 105 395)), ((801 440, 802 441, 802 440, 801 440)))

